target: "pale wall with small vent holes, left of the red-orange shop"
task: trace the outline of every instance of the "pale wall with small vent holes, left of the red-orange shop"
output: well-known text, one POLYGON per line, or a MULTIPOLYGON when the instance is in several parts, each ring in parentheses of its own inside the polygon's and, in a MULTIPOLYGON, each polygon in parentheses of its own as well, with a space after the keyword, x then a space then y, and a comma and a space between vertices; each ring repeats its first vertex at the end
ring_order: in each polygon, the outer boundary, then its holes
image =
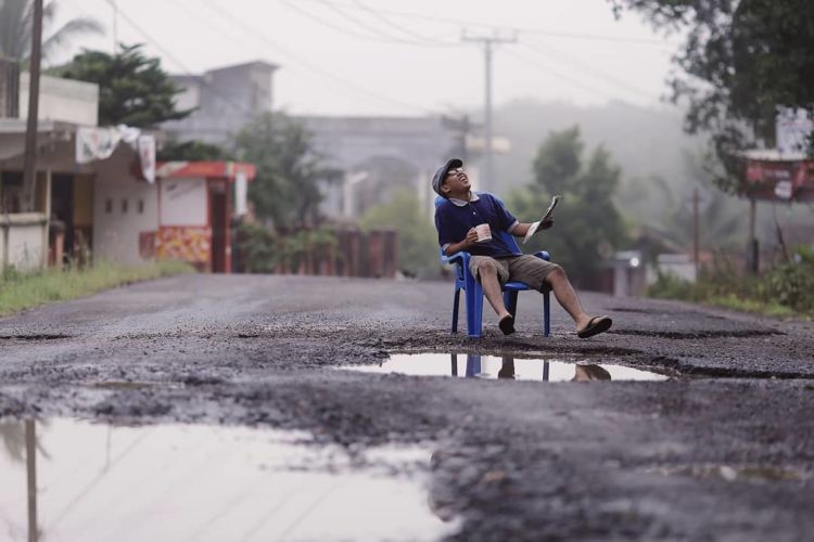
POLYGON ((158 189, 129 173, 132 152, 119 147, 100 163, 93 186, 93 253, 125 264, 144 261, 140 236, 158 229, 158 189))

